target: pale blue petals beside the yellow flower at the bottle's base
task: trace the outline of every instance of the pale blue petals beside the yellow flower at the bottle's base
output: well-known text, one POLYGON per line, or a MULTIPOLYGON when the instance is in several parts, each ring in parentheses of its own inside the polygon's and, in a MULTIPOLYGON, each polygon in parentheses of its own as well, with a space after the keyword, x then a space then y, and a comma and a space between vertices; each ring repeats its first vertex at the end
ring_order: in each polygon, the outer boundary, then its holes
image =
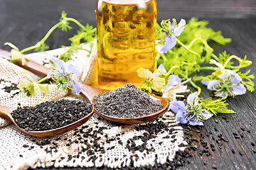
MULTIPOLYGON (((160 64, 159 67, 157 68, 157 70, 159 70, 160 72, 166 74, 166 69, 164 68, 163 64, 160 64)), ((157 77, 161 76, 160 72, 156 72, 155 75, 157 77)), ((179 78, 178 76, 175 75, 170 75, 168 78, 168 83, 166 84, 167 86, 165 86, 163 89, 161 89, 162 92, 166 92, 171 90, 172 88, 174 88, 174 86, 176 86, 177 84, 179 84, 181 82, 181 78, 179 78)))

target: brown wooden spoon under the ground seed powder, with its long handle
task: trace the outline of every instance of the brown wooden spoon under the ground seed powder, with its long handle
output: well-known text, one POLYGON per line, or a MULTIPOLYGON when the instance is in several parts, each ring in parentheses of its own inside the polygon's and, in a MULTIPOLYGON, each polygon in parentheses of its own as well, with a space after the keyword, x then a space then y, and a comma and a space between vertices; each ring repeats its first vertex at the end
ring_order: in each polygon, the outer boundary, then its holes
MULTIPOLYGON (((29 71, 36 73, 38 75, 41 75, 43 77, 46 77, 49 70, 47 67, 44 67, 43 65, 37 64, 36 62, 32 62, 32 61, 27 61, 25 65, 22 65, 21 62, 16 62, 16 64, 18 64, 18 66, 20 67, 23 67, 24 69, 28 69, 29 71)), ((87 86, 86 84, 82 84, 82 91, 80 92, 80 95, 84 97, 85 100, 89 101, 90 103, 93 103, 95 96, 104 94, 105 92, 107 91, 102 89, 96 89, 92 86, 87 86)), ((166 98, 161 98, 159 96, 153 96, 153 95, 151 95, 151 98, 153 98, 155 101, 159 101, 163 107, 159 111, 150 113, 148 115, 143 115, 136 118, 119 118, 119 117, 113 117, 113 116, 101 113, 100 111, 97 111, 97 109, 95 109, 95 112, 98 115, 102 116, 102 118, 105 118, 106 120, 110 120, 114 123, 122 123, 122 124, 146 123, 151 120, 155 120, 156 118, 159 118, 159 116, 166 113, 166 111, 168 111, 169 109, 169 101, 167 101, 166 98)))

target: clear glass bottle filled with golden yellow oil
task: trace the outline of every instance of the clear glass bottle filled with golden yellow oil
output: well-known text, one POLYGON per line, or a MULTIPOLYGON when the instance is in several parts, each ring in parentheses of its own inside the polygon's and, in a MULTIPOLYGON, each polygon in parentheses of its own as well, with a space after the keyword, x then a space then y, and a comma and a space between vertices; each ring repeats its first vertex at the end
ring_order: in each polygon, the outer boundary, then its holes
POLYGON ((100 89, 139 85, 137 69, 154 69, 156 0, 97 0, 100 89))

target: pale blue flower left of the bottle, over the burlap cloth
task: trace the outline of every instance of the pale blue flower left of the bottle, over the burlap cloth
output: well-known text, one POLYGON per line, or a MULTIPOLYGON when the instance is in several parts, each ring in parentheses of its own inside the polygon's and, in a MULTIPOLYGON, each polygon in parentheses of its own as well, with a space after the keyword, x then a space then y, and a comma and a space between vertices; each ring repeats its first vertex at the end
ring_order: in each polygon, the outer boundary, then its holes
POLYGON ((55 60, 53 62, 53 67, 47 74, 47 77, 48 79, 52 78, 56 81, 58 88, 72 89, 75 91, 75 94, 79 94, 82 86, 80 82, 71 78, 72 74, 79 75, 81 73, 73 64, 69 64, 67 67, 63 60, 55 60))

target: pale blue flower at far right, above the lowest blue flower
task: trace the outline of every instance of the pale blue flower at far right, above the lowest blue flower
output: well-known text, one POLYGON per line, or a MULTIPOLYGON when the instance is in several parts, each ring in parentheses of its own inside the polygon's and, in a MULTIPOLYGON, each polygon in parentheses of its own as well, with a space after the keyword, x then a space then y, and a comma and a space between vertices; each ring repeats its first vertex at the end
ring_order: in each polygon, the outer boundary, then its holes
POLYGON ((215 95, 220 98, 227 98, 228 96, 237 96, 246 93, 246 88, 242 85, 242 78, 230 69, 225 69, 225 73, 218 76, 218 80, 201 81, 207 86, 207 89, 216 91, 215 95))

